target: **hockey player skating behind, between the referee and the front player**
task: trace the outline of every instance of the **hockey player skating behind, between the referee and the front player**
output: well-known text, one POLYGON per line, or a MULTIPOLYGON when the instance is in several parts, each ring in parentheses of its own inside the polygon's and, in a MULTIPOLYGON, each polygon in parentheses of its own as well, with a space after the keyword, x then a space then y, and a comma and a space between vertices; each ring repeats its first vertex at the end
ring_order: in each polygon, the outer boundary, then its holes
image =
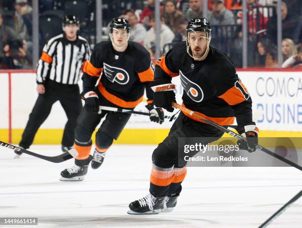
POLYGON ((117 139, 131 114, 99 110, 99 106, 134 109, 148 97, 146 108, 150 119, 163 122, 163 110, 153 107, 150 82, 154 73, 149 52, 129 39, 130 24, 124 18, 116 18, 110 24, 111 41, 98 43, 84 67, 82 98, 85 106, 76 120, 75 144, 78 152, 75 166, 61 172, 61 181, 81 181, 91 160, 91 135, 105 116, 96 133, 96 145, 91 166, 96 169, 103 163, 106 151, 117 139), (101 76, 102 75, 102 76, 101 76), (101 76, 97 87, 95 87, 101 76))

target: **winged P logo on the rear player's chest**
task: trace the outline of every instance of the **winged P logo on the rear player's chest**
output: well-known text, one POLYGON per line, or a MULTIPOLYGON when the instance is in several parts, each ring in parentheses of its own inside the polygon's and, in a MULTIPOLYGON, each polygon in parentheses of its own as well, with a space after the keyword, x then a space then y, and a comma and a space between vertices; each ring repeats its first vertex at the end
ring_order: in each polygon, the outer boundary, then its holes
POLYGON ((124 85, 129 81, 128 72, 118 67, 112 67, 106 63, 104 63, 104 73, 111 82, 117 82, 118 84, 124 85))

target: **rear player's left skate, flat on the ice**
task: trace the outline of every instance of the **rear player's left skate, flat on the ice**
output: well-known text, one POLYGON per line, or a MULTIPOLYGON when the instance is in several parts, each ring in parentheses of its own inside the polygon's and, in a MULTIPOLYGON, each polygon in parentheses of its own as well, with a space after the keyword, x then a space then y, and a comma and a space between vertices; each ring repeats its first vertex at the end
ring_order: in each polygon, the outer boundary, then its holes
POLYGON ((61 172, 60 181, 82 181, 87 173, 88 165, 74 165, 61 172))

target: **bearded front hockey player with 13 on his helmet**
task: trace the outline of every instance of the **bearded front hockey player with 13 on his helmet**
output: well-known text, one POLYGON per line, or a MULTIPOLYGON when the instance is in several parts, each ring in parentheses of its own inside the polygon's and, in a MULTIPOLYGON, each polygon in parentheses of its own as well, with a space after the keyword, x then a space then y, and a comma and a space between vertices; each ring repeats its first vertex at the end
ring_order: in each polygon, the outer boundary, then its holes
MULTIPOLYGON (((187 40, 157 60, 152 82, 154 105, 173 112, 173 89, 160 91, 158 87, 173 88, 169 86, 172 77, 180 76, 184 87, 183 106, 223 126, 232 124, 236 117, 237 131, 246 137, 245 143, 240 143, 241 149, 253 152, 258 144, 258 128, 252 121, 251 97, 229 57, 209 46, 210 41, 208 20, 191 19, 187 26, 187 40)), ((187 173, 187 162, 178 159, 178 148, 189 144, 189 137, 202 137, 202 143, 207 144, 222 135, 223 132, 215 127, 180 113, 169 135, 152 153, 150 193, 130 203, 128 213, 156 214, 173 210, 187 173), (180 146, 179 137, 185 141, 180 146)))

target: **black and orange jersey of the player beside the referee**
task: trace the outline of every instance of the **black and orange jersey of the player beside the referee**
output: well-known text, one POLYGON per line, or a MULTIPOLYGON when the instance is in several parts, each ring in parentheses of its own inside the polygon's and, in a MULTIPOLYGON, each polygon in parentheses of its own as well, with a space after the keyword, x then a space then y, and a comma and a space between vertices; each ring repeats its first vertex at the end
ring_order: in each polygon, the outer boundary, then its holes
POLYGON ((154 79, 150 53, 140 44, 128 41, 124 52, 113 49, 111 41, 98 43, 84 66, 82 76, 85 89, 97 89, 103 105, 135 108, 143 100, 144 90, 148 103, 153 92, 149 83, 154 79))

